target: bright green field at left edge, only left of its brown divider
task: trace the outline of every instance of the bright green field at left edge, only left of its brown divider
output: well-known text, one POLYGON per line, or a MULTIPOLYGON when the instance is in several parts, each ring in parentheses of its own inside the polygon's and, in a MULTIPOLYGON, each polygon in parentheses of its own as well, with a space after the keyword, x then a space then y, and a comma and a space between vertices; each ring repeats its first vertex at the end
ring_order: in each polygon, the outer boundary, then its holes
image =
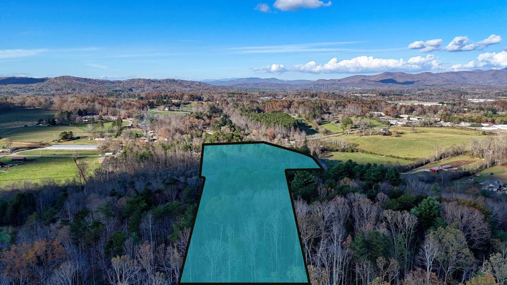
POLYGON ((6 172, 0 173, 0 186, 5 187, 23 181, 39 183, 47 179, 56 182, 79 179, 78 167, 71 157, 28 158, 26 162, 9 167, 6 172))

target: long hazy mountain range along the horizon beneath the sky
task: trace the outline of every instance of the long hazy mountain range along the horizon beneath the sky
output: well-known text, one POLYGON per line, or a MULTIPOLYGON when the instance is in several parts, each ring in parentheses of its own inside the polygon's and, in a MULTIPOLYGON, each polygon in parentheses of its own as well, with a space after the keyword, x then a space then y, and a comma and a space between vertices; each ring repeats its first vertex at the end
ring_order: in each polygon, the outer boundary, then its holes
POLYGON ((276 78, 238 78, 215 81, 176 79, 100 80, 71 76, 54 78, 0 77, 0 94, 57 94, 103 92, 205 92, 219 90, 319 90, 359 88, 401 90, 417 88, 507 87, 507 68, 445 73, 392 73, 355 75, 329 80, 280 80, 276 78))

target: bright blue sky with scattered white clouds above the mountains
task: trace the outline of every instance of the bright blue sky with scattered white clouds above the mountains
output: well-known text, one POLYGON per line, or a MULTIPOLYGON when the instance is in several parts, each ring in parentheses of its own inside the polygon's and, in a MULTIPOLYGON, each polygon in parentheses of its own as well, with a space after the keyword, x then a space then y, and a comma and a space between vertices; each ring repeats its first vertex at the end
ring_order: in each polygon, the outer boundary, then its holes
POLYGON ((507 67, 504 0, 0 2, 0 76, 329 79, 507 67))

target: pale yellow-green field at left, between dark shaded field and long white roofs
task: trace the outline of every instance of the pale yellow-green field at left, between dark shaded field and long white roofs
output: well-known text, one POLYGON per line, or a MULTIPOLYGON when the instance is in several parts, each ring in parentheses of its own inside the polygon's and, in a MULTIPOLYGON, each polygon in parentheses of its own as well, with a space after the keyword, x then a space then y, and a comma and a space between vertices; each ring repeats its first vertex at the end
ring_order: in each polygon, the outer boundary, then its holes
POLYGON ((88 133, 77 127, 47 126, 47 127, 20 127, 2 133, 12 141, 23 142, 50 142, 57 140, 62 131, 72 131, 74 136, 86 136, 88 133))

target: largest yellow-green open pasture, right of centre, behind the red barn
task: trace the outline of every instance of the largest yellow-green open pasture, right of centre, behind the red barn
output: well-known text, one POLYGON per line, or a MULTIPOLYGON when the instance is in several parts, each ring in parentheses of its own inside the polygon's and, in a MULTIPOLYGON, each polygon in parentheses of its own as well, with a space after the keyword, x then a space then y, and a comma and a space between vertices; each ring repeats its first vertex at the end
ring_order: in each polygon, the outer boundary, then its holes
MULTIPOLYGON (((400 157, 407 160, 423 159, 431 156, 435 147, 467 145, 472 138, 482 137, 482 132, 472 129, 417 127, 412 132, 410 127, 394 127, 391 132, 397 135, 341 135, 339 139, 357 144, 359 149, 379 155, 400 157)), ((330 139, 336 139, 335 137, 330 139)))

